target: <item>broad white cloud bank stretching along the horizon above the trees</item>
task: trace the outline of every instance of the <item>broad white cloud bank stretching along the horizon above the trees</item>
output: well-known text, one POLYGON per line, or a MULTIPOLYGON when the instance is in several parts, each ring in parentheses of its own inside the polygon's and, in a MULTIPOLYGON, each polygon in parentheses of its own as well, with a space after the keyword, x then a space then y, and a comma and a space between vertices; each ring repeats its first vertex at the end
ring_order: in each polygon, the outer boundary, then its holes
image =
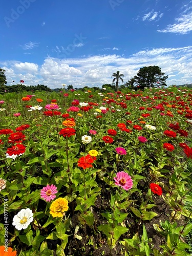
POLYGON ((61 83, 73 84, 74 88, 101 86, 111 83, 111 75, 117 70, 124 74, 126 82, 140 68, 154 65, 168 75, 167 84, 191 83, 192 46, 144 49, 127 57, 116 54, 65 59, 48 57, 41 66, 29 62, 0 62, 6 70, 7 84, 23 79, 26 85, 41 83, 49 88, 60 88, 61 83))

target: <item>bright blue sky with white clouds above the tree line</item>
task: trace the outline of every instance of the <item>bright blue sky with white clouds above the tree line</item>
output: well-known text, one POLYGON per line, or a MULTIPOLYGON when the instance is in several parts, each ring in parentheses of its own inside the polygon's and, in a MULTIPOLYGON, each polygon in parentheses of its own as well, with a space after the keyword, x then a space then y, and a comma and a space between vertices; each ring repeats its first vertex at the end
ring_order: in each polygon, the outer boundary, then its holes
POLYGON ((8 85, 101 87, 153 65, 192 82, 192 0, 9 0, 0 27, 8 85))

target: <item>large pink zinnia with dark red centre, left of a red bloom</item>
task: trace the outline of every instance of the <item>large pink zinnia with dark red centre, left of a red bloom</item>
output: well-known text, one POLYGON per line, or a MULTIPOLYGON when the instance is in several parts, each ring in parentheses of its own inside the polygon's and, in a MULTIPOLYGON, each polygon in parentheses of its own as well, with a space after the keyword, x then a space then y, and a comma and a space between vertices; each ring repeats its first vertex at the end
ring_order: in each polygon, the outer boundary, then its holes
POLYGON ((125 190, 133 187, 133 180, 130 175, 125 172, 118 172, 116 178, 114 177, 115 185, 121 186, 125 190))

